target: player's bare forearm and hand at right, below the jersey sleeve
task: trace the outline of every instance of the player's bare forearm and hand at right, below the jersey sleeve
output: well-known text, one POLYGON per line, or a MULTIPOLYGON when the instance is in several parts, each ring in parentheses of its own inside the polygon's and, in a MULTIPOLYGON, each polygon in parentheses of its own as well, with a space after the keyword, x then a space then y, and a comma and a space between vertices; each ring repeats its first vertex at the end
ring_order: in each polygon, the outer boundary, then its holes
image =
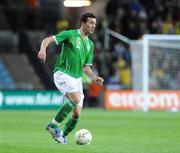
POLYGON ((90 65, 85 65, 84 72, 86 75, 93 80, 96 84, 101 85, 104 82, 104 79, 102 77, 97 76, 91 69, 90 65))

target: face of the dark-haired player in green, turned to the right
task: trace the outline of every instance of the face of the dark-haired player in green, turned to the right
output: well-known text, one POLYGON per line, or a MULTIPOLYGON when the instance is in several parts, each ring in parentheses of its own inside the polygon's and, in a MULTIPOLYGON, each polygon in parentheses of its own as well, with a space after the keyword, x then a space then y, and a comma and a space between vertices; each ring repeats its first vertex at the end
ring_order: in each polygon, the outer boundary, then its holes
POLYGON ((93 33, 96 27, 96 19, 95 18, 88 18, 87 22, 84 24, 84 31, 89 34, 93 33))

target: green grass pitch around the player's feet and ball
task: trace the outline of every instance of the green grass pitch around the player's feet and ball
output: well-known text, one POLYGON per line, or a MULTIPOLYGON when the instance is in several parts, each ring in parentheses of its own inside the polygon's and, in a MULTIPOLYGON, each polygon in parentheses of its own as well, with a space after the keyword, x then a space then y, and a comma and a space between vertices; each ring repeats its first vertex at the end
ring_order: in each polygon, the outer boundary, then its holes
POLYGON ((0 153, 180 153, 180 113, 83 109, 69 144, 45 130, 57 110, 1 110, 0 153), (76 145, 74 133, 87 128, 90 145, 76 145))

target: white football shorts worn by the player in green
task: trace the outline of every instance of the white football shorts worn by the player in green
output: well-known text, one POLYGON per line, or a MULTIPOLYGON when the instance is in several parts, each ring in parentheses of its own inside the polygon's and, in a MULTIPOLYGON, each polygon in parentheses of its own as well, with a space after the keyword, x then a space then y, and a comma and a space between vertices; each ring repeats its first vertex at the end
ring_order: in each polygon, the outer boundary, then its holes
POLYGON ((54 83, 58 90, 63 94, 64 98, 66 98, 67 93, 79 92, 81 94, 81 101, 78 103, 79 106, 83 106, 83 85, 82 78, 73 78, 70 75, 56 71, 54 73, 54 83))

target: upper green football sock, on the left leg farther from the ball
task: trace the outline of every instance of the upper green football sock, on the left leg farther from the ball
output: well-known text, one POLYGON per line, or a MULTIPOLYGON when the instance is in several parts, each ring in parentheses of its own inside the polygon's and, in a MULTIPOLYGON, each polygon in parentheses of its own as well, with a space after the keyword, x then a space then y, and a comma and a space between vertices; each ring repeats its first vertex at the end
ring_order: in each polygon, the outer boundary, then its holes
POLYGON ((59 112, 57 113, 55 117, 55 121, 58 123, 61 123, 64 118, 67 117, 67 115, 76 107, 76 104, 71 102, 70 100, 67 100, 60 108, 59 112))

